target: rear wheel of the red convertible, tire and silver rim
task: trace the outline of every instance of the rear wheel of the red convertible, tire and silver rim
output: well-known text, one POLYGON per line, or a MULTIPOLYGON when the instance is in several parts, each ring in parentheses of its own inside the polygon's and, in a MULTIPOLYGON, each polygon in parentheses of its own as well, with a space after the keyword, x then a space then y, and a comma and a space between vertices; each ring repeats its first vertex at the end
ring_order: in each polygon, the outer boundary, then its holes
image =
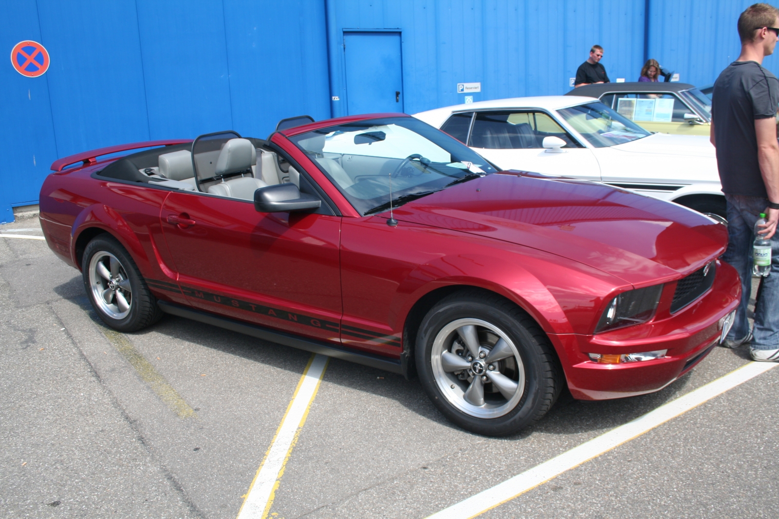
POLYGON ((152 295, 136 263, 113 236, 98 235, 86 245, 81 270, 93 309, 114 330, 141 330, 162 317, 157 298, 152 295), (111 279, 99 274, 106 270, 111 279))

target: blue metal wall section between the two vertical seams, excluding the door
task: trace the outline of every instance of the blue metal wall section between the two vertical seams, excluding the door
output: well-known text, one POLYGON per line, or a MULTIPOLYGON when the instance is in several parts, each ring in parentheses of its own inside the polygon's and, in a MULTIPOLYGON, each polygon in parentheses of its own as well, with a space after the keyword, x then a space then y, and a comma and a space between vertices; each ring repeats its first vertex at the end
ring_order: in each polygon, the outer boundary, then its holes
POLYGON ((344 30, 402 32, 408 113, 464 102, 457 83, 480 82, 474 101, 569 90, 592 44, 612 78, 640 71, 644 0, 327 0, 333 115, 346 115, 344 30), (637 28, 637 30, 636 30, 637 28))

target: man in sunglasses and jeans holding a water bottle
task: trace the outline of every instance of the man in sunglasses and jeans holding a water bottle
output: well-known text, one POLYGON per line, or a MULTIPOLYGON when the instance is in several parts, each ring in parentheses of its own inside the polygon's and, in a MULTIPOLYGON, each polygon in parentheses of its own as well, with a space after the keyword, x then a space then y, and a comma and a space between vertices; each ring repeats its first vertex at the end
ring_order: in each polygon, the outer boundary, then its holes
POLYGON ((711 143, 728 207, 728 250, 722 260, 738 270, 742 301, 727 348, 751 343, 753 360, 779 362, 779 79, 762 66, 779 40, 779 9, 754 4, 738 17, 741 55, 714 83, 711 143), (761 280, 755 323, 749 330, 746 307, 752 289, 752 244, 760 214, 767 224, 758 234, 770 240, 770 275, 761 280))

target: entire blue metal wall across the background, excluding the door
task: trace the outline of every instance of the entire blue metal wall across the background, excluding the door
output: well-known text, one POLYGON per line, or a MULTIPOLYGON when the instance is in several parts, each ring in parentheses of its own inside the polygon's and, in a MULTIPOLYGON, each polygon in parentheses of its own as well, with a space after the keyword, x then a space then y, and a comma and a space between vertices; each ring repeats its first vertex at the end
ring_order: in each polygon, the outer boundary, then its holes
POLYGON ((58 157, 228 128, 266 136, 291 115, 345 115, 344 30, 400 32, 414 113, 463 102, 456 83, 481 82, 474 101, 563 94, 596 43, 612 80, 637 79, 647 51, 682 81, 711 83, 738 55, 735 23, 750 3, 0 0, 0 48, 29 39, 51 55, 39 78, 0 66, 0 222, 37 202, 58 157))

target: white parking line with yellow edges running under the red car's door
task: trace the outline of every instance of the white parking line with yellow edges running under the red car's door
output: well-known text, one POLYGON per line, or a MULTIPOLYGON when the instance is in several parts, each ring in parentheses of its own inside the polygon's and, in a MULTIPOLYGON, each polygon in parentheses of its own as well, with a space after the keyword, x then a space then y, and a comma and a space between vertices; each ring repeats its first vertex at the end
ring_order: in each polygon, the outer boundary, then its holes
POLYGON ((292 401, 287 406, 287 412, 284 413, 276 436, 273 437, 263 463, 259 465, 254 481, 249 486, 241 510, 238 511, 238 519, 264 519, 270 512, 273 495, 279 488, 292 449, 295 443, 298 443, 298 436, 325 375, 328 360, 330 357, 325 355, 312 355, 308 365, 305 366, 303 376, 292 395, 292 401))

